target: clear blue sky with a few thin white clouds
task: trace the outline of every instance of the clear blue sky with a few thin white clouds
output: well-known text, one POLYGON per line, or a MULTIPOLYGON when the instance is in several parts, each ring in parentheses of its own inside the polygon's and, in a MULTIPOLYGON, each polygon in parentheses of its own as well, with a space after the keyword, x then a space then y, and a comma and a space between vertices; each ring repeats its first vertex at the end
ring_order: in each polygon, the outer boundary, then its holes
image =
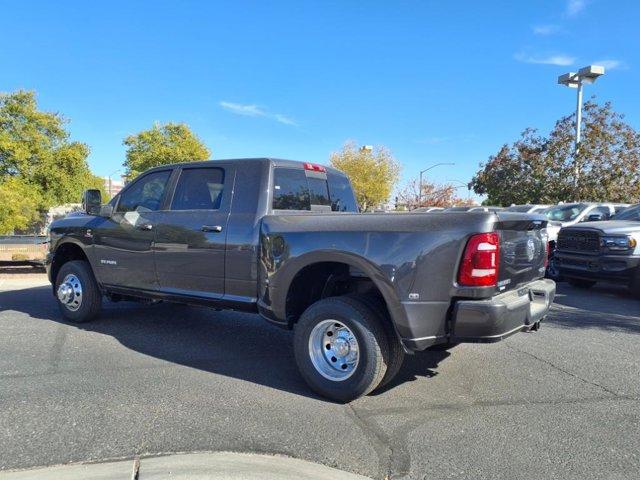
MULTIPOLYGON (((468 181, 528 126, 575 108, 556 77, 604 62, 587 95, 640 128, 640 3, 0 1, 0 91, 38 93, 91 146, 100 175, 122 139, 186 122, 213 158, 327 163, 383 144, 403 178, 468 181)), ((461 192, 463 193, 463 192, 461 192)))

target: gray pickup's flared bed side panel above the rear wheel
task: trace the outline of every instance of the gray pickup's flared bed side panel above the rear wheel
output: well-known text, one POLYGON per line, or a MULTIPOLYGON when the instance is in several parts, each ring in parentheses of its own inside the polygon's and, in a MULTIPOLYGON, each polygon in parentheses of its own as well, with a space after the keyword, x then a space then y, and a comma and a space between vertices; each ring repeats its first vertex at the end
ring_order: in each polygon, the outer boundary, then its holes
MULTIPOLYGON (((450 302, 472 233, 491 231, 491 213, 288 214, 264 217, 260 299, 284 318, 287 290, 303 267, 342 261, 381 290, 392 316, 402 302, 450 302)), ((395 319, 399 320, 399 319, 395 319)))

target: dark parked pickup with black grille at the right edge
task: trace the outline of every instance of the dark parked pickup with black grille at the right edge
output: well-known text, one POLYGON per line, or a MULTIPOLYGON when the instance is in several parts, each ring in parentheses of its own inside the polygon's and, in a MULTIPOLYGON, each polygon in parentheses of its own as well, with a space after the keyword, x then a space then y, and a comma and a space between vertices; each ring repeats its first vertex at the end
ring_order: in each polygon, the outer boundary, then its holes
POLYGON ((555 253, 560 275, 589 288, 600 280, 628 285, 640 298, 640 205, 614 220, 563 228, 555 253))

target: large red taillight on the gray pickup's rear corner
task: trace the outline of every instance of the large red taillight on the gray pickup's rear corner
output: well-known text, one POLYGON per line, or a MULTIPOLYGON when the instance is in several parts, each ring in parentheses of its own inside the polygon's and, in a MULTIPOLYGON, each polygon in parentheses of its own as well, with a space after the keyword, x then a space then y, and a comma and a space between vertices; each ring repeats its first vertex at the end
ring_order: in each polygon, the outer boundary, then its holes
POLYGON ((498 283, 500 237, 497 233, 473 235, 464 249, 458 284, 465 287, 490 287, 498 283))

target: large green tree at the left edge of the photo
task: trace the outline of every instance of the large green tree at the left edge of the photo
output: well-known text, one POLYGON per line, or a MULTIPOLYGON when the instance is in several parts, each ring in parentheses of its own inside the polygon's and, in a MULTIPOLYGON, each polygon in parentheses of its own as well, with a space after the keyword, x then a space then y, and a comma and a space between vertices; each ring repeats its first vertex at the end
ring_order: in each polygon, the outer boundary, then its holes
MULTIPOLYGON (((37 200, 28 218, 54 205, 79 202, 84 189, 102 186, 89 170, 89 147, 70 140, 66 123, 59 113, 40 111, 34 92, 0 94, 0 183, 5 189, 19 183, 21 191, 33 190, 22 205, 33 206, 31 200, 37 200)), ((5 216, 5 225, 11 218, 5 216)), ((18 226, 24 218, 17 215, 14 228, 24 228, 18 226)))

